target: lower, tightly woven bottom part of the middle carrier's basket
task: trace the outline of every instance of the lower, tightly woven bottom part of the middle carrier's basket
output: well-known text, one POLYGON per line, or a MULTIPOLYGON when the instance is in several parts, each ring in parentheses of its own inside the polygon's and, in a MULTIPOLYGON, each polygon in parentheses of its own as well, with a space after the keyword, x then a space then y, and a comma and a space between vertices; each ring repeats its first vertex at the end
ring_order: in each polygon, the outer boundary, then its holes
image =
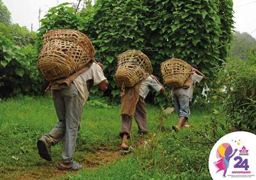
POLYGON ((115 82, 119 87, 132 87, 149 76, 138 63, 127 62, 120 65, 115 73, 115 82))

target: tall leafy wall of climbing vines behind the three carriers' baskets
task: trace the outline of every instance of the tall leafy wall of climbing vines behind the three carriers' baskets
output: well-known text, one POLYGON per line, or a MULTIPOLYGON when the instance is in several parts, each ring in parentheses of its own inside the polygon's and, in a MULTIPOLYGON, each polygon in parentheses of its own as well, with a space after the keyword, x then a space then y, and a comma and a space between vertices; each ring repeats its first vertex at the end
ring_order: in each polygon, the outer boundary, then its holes
POLYGON ((149 56, 158 77, 161 62, 171 56, 197 65, 213 77, 212 68, 226 57, 232 14, 232 1, 98 0, 94 7, 77 14, 63 4, 42 19, 38 39, 47 30, 59 28, 87 34, 97 57, 104 59, 109 95, 115 98, 119 94, 113 81, 117 55, 130 49, 149 56))

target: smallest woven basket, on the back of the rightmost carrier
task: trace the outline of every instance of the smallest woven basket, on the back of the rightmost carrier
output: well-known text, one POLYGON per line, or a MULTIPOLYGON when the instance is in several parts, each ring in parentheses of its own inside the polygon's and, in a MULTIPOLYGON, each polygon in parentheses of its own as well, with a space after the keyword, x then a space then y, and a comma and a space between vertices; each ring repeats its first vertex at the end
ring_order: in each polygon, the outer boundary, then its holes
POLYGON ((161 63, 161 73, 165 84, 171 88, 178 88, 191 74, 192 67, 181 59, 169 59, 161 63))

